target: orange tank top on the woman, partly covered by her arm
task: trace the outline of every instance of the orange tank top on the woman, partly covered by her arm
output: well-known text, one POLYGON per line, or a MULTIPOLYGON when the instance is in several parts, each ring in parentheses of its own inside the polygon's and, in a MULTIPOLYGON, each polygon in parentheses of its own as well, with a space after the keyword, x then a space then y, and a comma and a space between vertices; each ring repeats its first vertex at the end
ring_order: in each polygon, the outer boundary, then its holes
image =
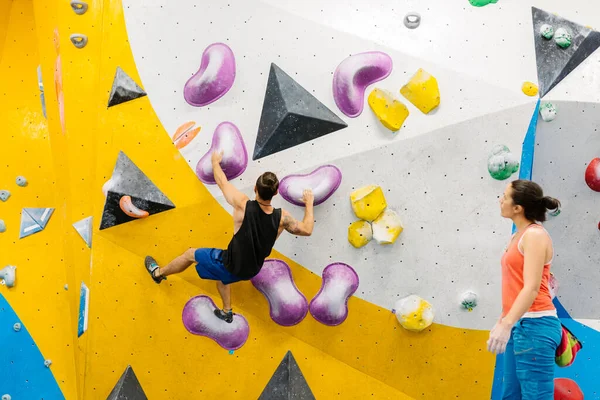
MULTIPOLYGON (((525 232, 534 227, 543 229, 543 227, 538 224, 529 225, 516 240, 513 240, 502 256, 502 317, 505 317, 506 314, 508 314, 515 299, 519 295, 519 292, 523 289, 523 267, 525 265, 525 256, 519 249, 519 244, 521 243, 521 239, 525 232)), ((555 310, 550 294, 550 285, 548 283, 551 264, 552 260, 544 265, 540 289, 531 308, 528 310, 530 313, 555 310)))

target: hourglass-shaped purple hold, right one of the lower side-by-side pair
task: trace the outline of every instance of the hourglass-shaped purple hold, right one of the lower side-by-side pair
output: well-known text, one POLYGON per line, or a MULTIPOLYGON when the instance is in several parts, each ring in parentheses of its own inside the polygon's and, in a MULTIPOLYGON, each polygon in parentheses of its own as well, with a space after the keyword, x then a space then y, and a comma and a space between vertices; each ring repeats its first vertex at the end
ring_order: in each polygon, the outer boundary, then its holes
POLYGON ((348 264, 333 263, 325 267, 322 276, 321 290, 308 309, 317 321, 336 326, 348 317, 348 299, 358 289, 358 274, 348 264))

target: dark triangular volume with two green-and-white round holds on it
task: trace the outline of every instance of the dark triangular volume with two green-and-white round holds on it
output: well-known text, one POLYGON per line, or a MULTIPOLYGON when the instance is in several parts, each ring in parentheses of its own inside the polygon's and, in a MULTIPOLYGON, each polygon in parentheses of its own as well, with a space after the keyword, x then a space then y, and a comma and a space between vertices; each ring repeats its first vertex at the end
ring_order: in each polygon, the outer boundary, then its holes
POLYGON ((543 97, 600 47, 600 33, 536 7, 531 8, 531 13, 538 83, 543 97), (540 28, 544 24, 552 26, 555 32, 561 27, 569 31, 571 46, 562 49, 554 39, 543 38, 540 28))

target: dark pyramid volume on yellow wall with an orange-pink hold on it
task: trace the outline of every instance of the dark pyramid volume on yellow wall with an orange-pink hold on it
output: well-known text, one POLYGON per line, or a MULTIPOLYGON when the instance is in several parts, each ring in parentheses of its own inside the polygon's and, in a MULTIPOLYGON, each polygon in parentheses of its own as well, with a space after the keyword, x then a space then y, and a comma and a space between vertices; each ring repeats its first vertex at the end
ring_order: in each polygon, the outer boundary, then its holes
POLYGON ((119 201, 123 196, 130 196, 133 204, 149 215, 175 208, 175 204, 122 151, 103 190, 106 202, 100 222, 101 230, 136 219, 121 210, 119 201))

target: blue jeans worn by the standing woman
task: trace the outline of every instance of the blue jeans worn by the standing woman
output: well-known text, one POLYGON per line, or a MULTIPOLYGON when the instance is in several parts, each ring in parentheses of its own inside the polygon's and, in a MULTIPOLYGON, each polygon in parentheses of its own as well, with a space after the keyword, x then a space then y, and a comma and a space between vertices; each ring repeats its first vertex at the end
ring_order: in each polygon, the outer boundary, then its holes
POLYGON ((503 400, 553 400, 554 363, 562 330, 556 317, 521 318, 504 354, 503 400))

